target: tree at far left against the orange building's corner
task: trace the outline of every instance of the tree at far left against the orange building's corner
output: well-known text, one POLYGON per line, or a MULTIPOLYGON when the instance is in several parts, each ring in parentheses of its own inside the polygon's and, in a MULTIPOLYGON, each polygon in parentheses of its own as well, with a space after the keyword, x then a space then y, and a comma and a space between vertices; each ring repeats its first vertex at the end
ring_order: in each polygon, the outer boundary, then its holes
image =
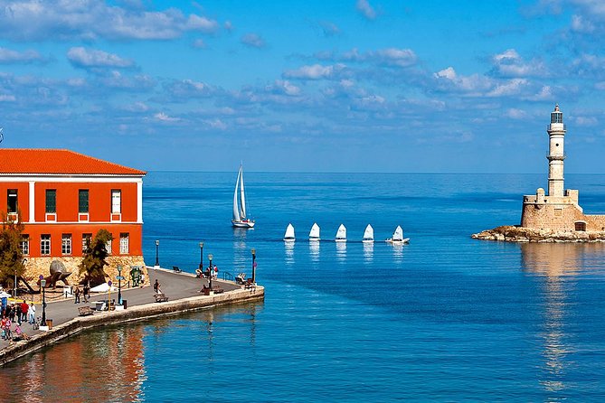
POLYGON ((2 230, 0 230, 0 283, 14 288, 14 276, 24 276, 24 255, 21 250, 24 224, 21 211, 17 211, 17 220, 8 220, 5 211, 0 212, 2 230))

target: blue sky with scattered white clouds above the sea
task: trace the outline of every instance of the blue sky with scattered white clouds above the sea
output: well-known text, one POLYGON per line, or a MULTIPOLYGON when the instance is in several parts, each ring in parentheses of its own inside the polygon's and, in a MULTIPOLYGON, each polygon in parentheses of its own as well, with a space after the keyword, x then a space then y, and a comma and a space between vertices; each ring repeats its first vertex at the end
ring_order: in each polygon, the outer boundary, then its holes
POLYGON ((605 173, 605 1, 0 0, 0 147, 147 171, 605 173))

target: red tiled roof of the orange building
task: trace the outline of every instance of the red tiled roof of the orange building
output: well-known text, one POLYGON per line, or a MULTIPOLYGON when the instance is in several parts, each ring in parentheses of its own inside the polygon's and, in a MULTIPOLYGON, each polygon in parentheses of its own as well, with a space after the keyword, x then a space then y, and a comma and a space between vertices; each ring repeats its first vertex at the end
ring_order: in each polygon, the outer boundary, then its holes
POLYGON ((145 175, 128 166, 109 163, 70 150, 0 148, 0 174, 145 175))

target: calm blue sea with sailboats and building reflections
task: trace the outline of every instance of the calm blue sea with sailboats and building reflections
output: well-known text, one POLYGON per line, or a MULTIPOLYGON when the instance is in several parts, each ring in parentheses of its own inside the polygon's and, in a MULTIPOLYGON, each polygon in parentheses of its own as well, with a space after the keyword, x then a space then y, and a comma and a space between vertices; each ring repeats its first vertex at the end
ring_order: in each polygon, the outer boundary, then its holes
MULTIPOLYGON (((545 174, 244 175, 253 230, 231 226, 236 172, 148 173, 144 254, 251 276, 254 248, 264 301, 81 333, 0 369, 0 400, 605 398, 605 244, 470 238, 518 224, 545 174), (383 241, 398 225, 409 245, 383 241)), ((565 180, 605 213, 605 175, 565 180)))

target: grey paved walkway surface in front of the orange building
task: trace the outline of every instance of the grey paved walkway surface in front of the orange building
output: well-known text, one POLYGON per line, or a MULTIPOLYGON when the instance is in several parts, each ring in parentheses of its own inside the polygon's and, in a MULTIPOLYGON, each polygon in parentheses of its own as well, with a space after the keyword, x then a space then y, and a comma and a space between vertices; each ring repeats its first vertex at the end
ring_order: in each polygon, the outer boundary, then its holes
MULTIPOLYGON (((147 267, 147 269, 150 278, 148 278, 149 281, 146 279, 146 286, 142 288, 122 288, 122 300, 127 301, 127 309, 128 307, 135 305, 156 304, 154 288, 151 286, 156 282, 156 279, 160 283, 160 290, 170 301, 190 296, 199 296, 201 295, 199 291, 202 289, 203 285, 208 286, 208 280, 196 278, 190 273, 174 273, 173 270, 162 268, 154 269, 153 267, 147 267)), ((241 286, 236 285, 232 281, 213 280, 213 288, 216 288, 216 286, 220 286, 225 291, 241 288, 241 286)), ((32 295, 23 296, 27 301, 32 297, 32 295)), ((88 304, 83 302, 83 298, 80 299, 80 304, 74 304, 74 298, 72 297, 68 299, 61 297, 59 300, 52 301, 52 299, 49 298, 51 293, 47 293, 46 296, 46 319, 52 319, 53 326, 69 322, 71 319, 78 316, 79 306, 90 305, 94 307, 95 301, 108 299, 108 293, 93 293, 88 304)), ((38 317, 42 316, 42 304, 39 303, 40 298, 40 295, 34 296, 34 301, 36 302, 36 316, 38 317)), ((118 301, 118 291, 112 292, 110 298, 118 301)), ((18 299, 18 301, 23 301, 23 299, 18 299)), ((23 323, 21 327, 24 333, 29 335, 43 332, 40 330, 33 330, 33 326, 28 323, 23 323)), ((12 329, 14 329, 14 325, 12 326, 12 329)), ((8 344, 8 341, 0 339, 0 348, 5 348, 8 344)))

